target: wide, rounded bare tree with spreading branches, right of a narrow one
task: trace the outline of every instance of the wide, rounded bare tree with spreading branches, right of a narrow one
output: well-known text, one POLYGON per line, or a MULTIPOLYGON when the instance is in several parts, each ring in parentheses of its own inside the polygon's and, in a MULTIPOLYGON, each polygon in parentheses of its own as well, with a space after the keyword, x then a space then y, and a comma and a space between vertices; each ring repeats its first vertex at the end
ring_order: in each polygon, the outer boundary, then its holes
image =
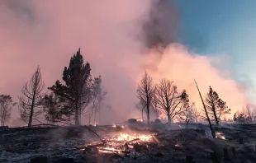
POLYGON ((183 112, 183 105, 188 102, 186 91, 178 93, 177 86, 174 86, 173 81, 168 79, 160 80, 156 86, 155 96, 159 109, 167 115, 168 123, 183 112))

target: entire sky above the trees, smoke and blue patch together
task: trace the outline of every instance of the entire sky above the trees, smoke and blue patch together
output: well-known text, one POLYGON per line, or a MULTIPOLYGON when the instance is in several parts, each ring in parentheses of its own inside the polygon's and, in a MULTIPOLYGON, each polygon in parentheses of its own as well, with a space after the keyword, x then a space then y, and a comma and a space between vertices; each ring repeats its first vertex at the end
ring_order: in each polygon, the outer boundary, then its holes
POLYGON ((80 47, 92 77, 102 75, 106 103, 118 115, 113 121, 140 117, 136 86, 145 70, 155 82, 168 78, 186 89, 199 109, 194 78, 201 93, 211 85, 231 109, 241 109, 253 95, 248 86, 254 88, 254 6, 253 0, 2 0, 0 94, 17 100, 37 65, 46 87, 53 85, 80 47))

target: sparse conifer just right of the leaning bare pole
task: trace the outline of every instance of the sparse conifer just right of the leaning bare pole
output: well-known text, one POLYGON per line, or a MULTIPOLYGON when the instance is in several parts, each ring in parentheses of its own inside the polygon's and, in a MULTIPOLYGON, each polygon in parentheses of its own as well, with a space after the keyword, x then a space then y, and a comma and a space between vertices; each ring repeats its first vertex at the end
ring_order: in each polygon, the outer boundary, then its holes
POLYGON ((206 95, 206 109, 211 119, 214 119, 216 125, 219 125, 220 117, 223 114, 230 114, 231 109, 228 108, 226 102, 221 100, 216 91, 213 91, 211 86, 206 95))

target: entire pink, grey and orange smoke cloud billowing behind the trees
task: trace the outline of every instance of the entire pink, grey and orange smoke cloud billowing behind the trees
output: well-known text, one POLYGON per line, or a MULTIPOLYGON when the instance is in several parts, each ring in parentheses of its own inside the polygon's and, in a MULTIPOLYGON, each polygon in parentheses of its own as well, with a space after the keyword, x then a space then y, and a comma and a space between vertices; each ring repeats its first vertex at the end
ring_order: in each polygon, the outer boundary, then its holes
MULTIPOLYGON (((220 91, 232 109, 247 102, 239 84, 212 67, 211 58, 173 44, 178 13, 169 1, 5 0, 0 2, 0 24, 0 91, 16 100, 37 65, 45 85, 51 86, 80 47, 92 76, 102 75, 106 105, 115 112, 102 122, 140 117, 136 86, 145 68, 153 70, 156 81, 168 77, 187 89, 196 102, 193 78, 203 94, 209 85, 220 91)), ((17 110, 12 117, 18 117, 17 110)))

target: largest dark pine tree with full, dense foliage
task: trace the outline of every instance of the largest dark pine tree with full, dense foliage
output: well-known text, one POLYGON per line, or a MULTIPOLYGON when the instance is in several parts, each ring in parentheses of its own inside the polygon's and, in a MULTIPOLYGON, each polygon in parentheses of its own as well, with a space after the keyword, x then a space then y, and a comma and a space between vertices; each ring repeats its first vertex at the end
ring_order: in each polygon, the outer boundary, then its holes
POLYGON ((57 80, 49 89, 62 103, 61 113, 67 117, 65 120, 74 119, 75 125, 79 125, 83 109, 92 100, 91 67, 83 62, 80 49, 70 58, 69 68, 64 68, 62 79, 64 84, 57 80))

